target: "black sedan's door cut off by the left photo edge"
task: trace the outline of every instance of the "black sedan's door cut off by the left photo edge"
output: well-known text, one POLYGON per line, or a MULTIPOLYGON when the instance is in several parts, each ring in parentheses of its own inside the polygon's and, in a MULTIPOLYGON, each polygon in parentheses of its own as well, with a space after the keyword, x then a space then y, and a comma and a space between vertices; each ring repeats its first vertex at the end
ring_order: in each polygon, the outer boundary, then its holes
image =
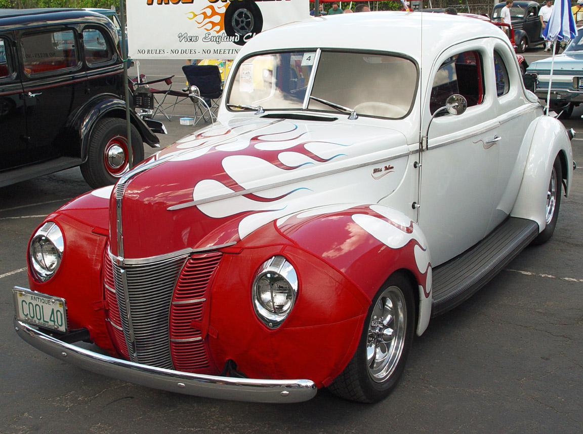
POLYGON ((26 164, 26 120, 13 33, 0 33, 0 171, 26 164))

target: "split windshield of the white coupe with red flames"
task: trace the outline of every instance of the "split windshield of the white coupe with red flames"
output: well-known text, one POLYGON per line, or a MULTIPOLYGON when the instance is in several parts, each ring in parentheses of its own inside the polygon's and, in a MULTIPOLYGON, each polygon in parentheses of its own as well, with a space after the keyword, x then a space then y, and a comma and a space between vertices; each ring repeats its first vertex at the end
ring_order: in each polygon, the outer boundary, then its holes
POLYGON ((350 108, 359 115, 401 118, 413 105, 417 68, 411 60, 394 55, 322 51, 316 66, 316 58, 316 50, 247 58, 237 69, 227 104, 347 114, 331 104, 307 98, 308 83, 315 74, 310 96, 350 108))

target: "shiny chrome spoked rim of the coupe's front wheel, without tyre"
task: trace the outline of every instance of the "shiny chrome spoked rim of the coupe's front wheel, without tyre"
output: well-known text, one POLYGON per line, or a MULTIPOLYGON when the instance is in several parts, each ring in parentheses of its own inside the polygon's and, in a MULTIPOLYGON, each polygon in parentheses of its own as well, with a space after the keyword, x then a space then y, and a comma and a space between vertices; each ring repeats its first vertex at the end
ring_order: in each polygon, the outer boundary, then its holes
POLYGON ((384 382, 395 371, 405 345, 407 311, 400 288, 385 289, 374 305, 367 335, 367 368, 372 379, 384 382))

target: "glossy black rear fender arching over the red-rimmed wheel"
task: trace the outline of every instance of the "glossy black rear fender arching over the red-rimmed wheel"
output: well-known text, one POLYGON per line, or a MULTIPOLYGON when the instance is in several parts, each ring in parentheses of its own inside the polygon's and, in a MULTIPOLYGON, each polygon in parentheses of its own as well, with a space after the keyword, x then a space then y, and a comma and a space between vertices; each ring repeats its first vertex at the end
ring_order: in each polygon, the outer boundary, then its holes
MULTIPOLYGON (((133 110, 129 112, 129 116, 130 121, 142 136, 142 140, 152 148, 157 148, 160 139, 133 110)), ((89 139, 94 126, 97 121, 107 117, 125 120, 125 101, 112 93, 102 93, 87 101, 68 122, 67 135, 70 138, 68 142, 80 143, 80 149, 73 153, 79 155, 83 161, 87 158, 89 139)))

